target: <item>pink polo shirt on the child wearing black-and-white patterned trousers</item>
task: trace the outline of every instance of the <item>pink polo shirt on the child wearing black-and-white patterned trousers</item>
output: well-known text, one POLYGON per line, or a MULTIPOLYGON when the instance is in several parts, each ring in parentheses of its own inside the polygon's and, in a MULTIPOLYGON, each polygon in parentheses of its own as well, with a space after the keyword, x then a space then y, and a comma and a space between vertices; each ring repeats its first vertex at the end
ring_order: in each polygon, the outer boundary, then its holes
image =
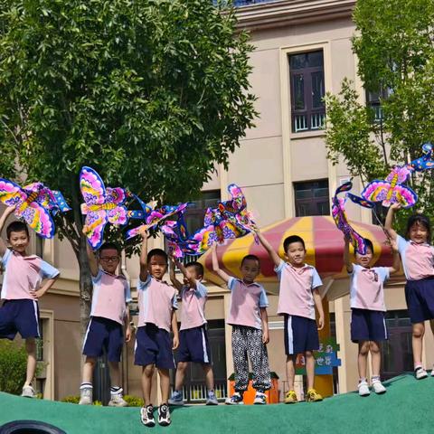
POLYGON ((226 322, 262 329, 260 308, 269 306, 264 288, 256 282, 246 285, 239 278, 230 278, 228 288, 231 290, 231 307, 226 322))

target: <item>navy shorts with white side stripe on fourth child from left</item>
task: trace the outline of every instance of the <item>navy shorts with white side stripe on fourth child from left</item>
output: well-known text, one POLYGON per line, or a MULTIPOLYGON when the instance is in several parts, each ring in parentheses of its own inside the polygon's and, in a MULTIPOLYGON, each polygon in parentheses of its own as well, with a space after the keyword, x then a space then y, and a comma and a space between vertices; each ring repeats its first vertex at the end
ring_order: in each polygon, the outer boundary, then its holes
POLYGON ((179 362, 212 363, 206 325, 187 328, 179 332, 176 363, 179 362))

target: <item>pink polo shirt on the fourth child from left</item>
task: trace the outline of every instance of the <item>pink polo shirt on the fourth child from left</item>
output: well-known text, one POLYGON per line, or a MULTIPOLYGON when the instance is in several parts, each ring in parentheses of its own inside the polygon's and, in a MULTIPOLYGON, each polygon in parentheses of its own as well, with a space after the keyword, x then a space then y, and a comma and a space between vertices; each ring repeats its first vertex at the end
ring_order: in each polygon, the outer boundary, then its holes
POLYGON ((180 330, 200 327, 206 324, 205 304, 207 291, 203 283, 196 280, 196 288, 184 286, 181 288, 180 296, 183 303, 180 330))

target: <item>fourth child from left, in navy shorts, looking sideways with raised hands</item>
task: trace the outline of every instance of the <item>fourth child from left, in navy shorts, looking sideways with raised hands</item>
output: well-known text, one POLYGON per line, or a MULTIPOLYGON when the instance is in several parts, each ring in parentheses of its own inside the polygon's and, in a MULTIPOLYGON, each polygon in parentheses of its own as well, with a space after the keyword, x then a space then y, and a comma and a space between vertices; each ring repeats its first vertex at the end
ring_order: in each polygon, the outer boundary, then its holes
POLYGON ((185 267, 173 256, 170 264, 170 279, 179 291, 183 303, 181 313, 181 328, 179 329, 179 348, 176 358, 175 391, 169 399, 171 405, 184 405, 183 383, 185 371, 189 362, 200 363, 205 374, 208 397, 206 405, 217 405, 214 393, 214 374, 212 373, 211 348, 206 328, 205 304, 206 287, 202 283, 203 265, 190 262, 185 267), (175 276, 175 266, 184 275, 184 285, 175 276))

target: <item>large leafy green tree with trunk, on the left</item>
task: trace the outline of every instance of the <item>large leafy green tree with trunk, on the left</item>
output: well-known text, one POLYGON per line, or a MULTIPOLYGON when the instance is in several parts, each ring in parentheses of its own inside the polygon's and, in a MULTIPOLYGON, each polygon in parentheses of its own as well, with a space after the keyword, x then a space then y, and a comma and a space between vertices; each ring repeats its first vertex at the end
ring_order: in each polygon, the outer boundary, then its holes
POLYGON ((223 7, 0 0, 1 175, 42 181, 72 205, 57 226, 79 261, 82 325, 91 282, 80 167, 145 201, 179 202, 252 126, 252 47, 223 7))

